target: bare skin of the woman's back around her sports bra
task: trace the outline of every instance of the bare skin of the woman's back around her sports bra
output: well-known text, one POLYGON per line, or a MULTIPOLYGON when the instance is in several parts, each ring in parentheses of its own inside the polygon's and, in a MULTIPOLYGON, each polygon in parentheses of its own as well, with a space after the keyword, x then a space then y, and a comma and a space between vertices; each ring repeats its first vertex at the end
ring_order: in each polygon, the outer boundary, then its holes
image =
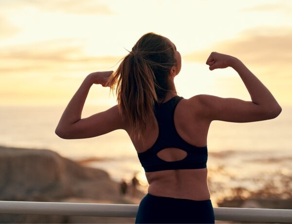
MULTIPOLYGON (((166 100, 167 101, 167 100, 166 100)), ((196 116, 196 108, 189 99, 182 99, 175 108, 174 123, 178 134, 187 143, 203 147, 207 145, 209 121, 204 121, 196 116)), ((129 133, 129 130, 126 130, 129 133)), ((158 138, 158 124, 146 128, 144 145, 142 141, 131 138, 137 152, 150 149, 158 138)), ((177 161, 186 156, 182 149, 166 148, 157 154, 165 161, 177 161)), ((146 172, 149 184, 148 193, 157 196, 184 198, 191 200, 210 199, 207 186, 207 168, 200 169, 176 169, 146 172)))

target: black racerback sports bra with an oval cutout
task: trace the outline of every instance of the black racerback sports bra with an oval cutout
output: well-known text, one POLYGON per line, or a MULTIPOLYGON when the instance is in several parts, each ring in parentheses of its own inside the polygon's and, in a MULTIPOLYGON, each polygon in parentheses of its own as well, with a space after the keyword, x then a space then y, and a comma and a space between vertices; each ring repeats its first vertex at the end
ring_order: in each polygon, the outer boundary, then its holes
POLYGON ((200 169, 206 168, 208 159, 207 146, 196 147, 185 142, 174 126, 174 111, 182 96, 175 96, 163 104, 155 103, 154 112, 158 122, 159 134, 154 145, 138 158, 145 172, 169 169, 200 169), (187 152, 187 156, 179 161, 164 161, 157 153, 166 148, 178 148, 187 152))

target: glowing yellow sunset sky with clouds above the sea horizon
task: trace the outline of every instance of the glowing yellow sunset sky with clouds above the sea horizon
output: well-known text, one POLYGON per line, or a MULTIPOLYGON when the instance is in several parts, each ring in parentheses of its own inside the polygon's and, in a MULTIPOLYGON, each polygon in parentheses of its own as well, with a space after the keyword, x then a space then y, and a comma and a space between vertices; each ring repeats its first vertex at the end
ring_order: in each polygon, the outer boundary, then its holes
MULTIPOLYGON (((184 98, 251 100, 235 70, 209 70, 216 51, 292 105, 290 0, 0 0, 0 106, 67 105, 88 74, 115 70, 148 32, 181 53, 175 84, 184 98)), ((93 85, 86 104, 113 106, 116 96, 93 85)))

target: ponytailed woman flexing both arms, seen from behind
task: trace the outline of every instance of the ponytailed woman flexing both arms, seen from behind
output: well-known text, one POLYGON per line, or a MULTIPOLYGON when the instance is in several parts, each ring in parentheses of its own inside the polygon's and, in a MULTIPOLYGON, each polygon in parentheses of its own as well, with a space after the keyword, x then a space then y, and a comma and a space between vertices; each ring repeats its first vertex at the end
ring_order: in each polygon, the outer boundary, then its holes
POLYGON ((178 96, 174 77, 181 55, 166 37, 147 33, 116 72, 88 75, 65 109, 55 133, 61 138, 91 138, 128 132, 145 169, 148 193, 135 223, 215 223, 207 186, 207 133, 213 120, 253 122, 273 119, 281 107, 270 91, 236 57, 212 52, 212 71, 232 67, 252 101, 199 94, 178 96), (91 85, 113 90, 118 104, 81 119, 91 85))

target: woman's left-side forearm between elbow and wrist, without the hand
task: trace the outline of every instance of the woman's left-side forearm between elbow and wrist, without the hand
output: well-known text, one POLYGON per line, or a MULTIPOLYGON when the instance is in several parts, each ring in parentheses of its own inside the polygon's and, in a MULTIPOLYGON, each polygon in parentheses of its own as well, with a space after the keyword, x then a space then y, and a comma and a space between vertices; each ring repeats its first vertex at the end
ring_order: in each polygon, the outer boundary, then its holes
POLYGON ((84 103, 92 84, 93 82, 89 76, 83 80, 79 89, 73 95, 65 111, 63 112, 56 127, 56 131, 62 131, 64 128, 69 127, 81 119, 84 103))

